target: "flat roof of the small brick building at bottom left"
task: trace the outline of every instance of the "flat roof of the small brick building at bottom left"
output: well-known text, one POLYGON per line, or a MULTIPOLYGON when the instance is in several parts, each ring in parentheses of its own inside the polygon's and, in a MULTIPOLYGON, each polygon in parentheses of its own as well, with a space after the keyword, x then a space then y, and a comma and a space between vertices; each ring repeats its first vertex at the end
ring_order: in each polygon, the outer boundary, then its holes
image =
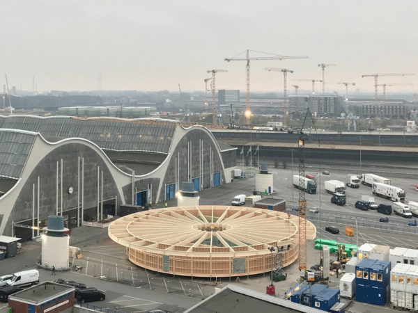
POLYGON ((42 282, 28 289, 9 296, 9 300, 16 300, 33 305, 40 305, 58 296, 63 296, 75 290, 75 287, 55 282, 42 282))

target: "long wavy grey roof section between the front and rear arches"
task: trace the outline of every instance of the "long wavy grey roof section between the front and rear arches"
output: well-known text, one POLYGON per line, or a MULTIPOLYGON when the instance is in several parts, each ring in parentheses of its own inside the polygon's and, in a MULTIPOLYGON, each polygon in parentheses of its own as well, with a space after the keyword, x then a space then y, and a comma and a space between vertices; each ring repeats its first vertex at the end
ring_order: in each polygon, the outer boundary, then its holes
POLYGON ((0 115, 0 128, 40 133, 47 141, 85 138, 103 150, 169 152, 175 120, 73 118, 70 116, 0 115))

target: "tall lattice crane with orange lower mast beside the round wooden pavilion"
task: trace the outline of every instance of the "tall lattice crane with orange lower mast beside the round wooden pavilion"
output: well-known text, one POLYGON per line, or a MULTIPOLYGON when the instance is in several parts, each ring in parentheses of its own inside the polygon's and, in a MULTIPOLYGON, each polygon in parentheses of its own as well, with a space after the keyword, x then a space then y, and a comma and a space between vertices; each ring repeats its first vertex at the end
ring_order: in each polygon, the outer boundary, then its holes
MULTIPOLYGON (((312 117, 309 108, 304 116, 302 127, 300 127, 300 136, 297 143, 297 153, 299 159, 299 186, 304 186, 305 179, 304 144, 309 136, 303 133, 303 129, 308 117, 311 119, 312 125, 315 125, 314 118, 312 117)), ((305 192, 302 188, 299 188, 297 215, 299 216, 299 270, 304 277, 307 277, 307 201, 305 199, 305 192)))

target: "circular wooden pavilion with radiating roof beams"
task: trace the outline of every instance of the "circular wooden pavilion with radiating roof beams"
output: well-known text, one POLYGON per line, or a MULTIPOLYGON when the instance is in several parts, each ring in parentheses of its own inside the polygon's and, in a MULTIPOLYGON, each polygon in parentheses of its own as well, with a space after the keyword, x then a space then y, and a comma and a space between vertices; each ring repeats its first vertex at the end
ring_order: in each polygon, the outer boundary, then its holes
MULTIPOLYGON (((142 268, 192 277, 265 273, 272 265, 292 264, 298 255, 297 216, 252 207, 142 211, 111 223, 109 236, 142 268)), ((307 239, 315 236, 316 227, 307 221, 307 239)))

